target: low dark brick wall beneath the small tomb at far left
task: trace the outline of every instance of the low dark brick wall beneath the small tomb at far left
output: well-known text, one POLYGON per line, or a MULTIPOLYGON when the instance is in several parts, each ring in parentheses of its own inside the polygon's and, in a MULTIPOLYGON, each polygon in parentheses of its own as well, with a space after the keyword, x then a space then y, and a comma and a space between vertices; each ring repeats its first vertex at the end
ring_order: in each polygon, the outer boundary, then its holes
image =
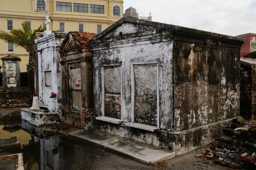
POLYGON ((0 109, 30 107, 32 91, 28 87, 0 87, 0 109))

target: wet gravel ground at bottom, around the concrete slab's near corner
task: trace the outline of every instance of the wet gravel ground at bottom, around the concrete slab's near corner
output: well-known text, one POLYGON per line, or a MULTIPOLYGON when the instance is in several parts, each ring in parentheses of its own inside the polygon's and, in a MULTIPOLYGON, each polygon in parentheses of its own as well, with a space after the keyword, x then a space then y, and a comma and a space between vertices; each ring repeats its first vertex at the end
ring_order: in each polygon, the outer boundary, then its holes
MULTIPOLYGON (((89 167, 84 167, 84 169, 95 169, 95 170, 128 170, 128 169, 148 169, 148 170, 158 170, 158 169, 173 169, 173 170, 218 170, 218 169, 229 169, 227 167, 222 167, 220 165, 215 165, 212 163, 203 163, 201 159, 195 158, 196 154, 203 152, 205 148, 198 149, 196 151, 177 156, 167 161, 160 162, 154 165, 145 165, 137 161, 118 156, 100 149, 94 149, 94 152, 90 152, 90 157, 94 158, 94 161, 90 161, 89 167)), ((89 156, 89 155, 88 155, 89 156)), ((90 159, 90 158, 89 158, 90 159)))

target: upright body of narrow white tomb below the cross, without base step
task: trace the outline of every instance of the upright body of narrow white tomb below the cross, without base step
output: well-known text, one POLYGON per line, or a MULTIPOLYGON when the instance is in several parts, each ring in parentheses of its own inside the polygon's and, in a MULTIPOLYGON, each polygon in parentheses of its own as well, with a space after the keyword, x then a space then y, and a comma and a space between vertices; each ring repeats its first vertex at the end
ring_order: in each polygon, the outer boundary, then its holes
POLYGON ((48 108, 51 92, 57 94, 54 98, 54 112, 61 111, 62 81, 60 55, 62 41, 67 33, 54 32, 35 39, 38 54, 38 99, 39 106, 48 108))

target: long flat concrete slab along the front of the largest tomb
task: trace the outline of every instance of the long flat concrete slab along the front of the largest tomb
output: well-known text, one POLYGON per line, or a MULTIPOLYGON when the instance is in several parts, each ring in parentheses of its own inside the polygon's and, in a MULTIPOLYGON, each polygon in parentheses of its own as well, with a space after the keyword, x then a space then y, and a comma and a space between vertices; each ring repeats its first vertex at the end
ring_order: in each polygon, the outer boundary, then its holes
POLYGON ((155 164, 175 157, 174 152, 166 152, 145 143, 99 131, 87 132, 80 130, 69 133, 69 137, 95 143, 107 151, 126 156, 144 164, 155 164))

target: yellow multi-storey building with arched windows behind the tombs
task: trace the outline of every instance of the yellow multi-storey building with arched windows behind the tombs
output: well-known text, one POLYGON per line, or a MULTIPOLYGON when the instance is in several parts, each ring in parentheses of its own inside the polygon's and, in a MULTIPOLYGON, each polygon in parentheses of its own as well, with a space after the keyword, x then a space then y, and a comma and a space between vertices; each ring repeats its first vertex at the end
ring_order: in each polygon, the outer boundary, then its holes
MULTIPOLYGON (((100 33, 123 17, 123 3, 123 0, 1 0, 0 30, 19 29, 24 21, 36 29, 49 16, 49 30, 100 33)), ((26 72, 25 49, 0 40, 0 58, 7 54, 19 56, 21 72, 26 72)))

